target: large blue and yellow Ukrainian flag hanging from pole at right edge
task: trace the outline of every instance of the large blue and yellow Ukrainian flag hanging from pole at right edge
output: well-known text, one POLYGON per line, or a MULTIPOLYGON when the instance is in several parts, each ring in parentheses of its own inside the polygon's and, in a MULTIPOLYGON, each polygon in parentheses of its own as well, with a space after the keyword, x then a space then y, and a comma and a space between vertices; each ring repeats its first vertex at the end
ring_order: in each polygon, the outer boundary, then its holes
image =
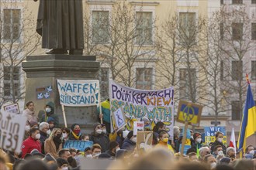
POLYGON ((240 125, 240 133, 237 142, 238 151, 241 148, 245 151, 246 138, 254 134, 256 131, 256 106, 254 103, 254 97, 251 93, 251 86, 248 83, 247 98, 244 107, 244 114, 240 125))

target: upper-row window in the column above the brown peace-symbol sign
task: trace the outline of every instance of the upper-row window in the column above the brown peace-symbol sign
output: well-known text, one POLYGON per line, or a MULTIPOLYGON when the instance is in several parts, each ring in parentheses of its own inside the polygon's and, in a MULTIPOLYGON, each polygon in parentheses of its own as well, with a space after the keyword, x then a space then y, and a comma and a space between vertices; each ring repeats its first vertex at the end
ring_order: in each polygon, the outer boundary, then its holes
POLYGON ((180 40, 185 44, 195 42, 195 12, 179 13, 180 40))

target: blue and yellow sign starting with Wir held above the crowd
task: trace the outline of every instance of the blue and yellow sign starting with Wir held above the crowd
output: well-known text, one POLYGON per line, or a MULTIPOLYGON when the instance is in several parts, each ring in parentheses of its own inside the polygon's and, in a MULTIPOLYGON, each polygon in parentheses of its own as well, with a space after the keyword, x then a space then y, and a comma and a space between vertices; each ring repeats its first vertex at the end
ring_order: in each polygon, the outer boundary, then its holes
POLYGON ((214 142, 216 140, 215 133, 217 131, 220 131, 223 133, 223 145, 227 145, 227 134, 226 134, 226 128, 223 126, 219 127, 205 127, 205 143, 206 145, 209 145, 209 143, 214 142))

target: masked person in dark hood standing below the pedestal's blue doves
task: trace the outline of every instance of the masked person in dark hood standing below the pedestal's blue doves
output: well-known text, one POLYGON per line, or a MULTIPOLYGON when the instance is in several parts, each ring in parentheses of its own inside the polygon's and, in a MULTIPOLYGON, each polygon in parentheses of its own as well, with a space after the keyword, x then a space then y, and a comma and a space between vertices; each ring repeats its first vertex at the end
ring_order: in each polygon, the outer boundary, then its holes
POLYGON ((57 114, 54 113, 54 103, 52 101, 48 102, 45 105, 45 114, 40 119, 40 122, 48 122, 54 121, 54 128, 59 128, 59 117, 57 114))

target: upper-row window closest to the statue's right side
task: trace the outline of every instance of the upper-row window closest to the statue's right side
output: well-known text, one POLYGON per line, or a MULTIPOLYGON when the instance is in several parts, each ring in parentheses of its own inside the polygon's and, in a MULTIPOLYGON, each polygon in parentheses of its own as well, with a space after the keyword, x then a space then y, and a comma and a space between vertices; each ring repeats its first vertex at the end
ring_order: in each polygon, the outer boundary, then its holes
POLYGON ((106 44, 109 42, 109 12, 92 12, 92 41, 106 44))

